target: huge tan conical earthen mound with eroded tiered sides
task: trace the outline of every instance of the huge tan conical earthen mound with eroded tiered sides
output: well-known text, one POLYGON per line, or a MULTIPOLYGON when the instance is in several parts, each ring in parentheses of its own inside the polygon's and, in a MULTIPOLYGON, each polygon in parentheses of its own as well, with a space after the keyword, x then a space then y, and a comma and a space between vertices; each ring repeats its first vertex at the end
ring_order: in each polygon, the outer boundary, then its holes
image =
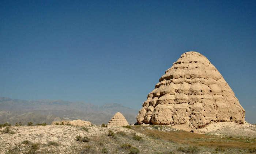
POLYGON ((186 52, 148 94, 138 124, 187 125, 244 123, 245 110, 219 71, 198 52, 186 52))

